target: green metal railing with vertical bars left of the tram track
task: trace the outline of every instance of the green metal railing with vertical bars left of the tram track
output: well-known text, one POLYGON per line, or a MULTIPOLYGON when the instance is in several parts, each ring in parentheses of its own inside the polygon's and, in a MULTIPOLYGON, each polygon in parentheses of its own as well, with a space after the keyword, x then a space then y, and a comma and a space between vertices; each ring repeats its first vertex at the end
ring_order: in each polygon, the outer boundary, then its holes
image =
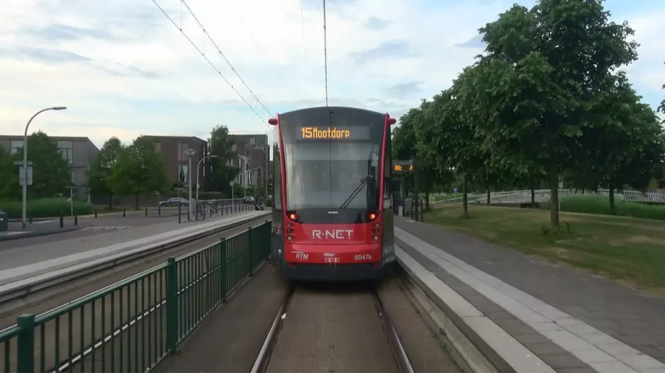
POLYGON ((1 372, 154 369, 270 254, 270 223, 0 331, 1 372))

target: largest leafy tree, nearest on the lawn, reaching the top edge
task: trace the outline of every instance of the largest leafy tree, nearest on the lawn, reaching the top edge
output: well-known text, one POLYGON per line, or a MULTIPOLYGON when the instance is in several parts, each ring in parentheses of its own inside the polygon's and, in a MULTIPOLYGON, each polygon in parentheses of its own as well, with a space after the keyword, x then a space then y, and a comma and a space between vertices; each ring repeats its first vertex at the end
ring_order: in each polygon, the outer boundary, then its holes
POLYGON ((467 110, 484 118, 476 125, 486 149, 493 142, 505 161, 547 174, 554 228, 559 175, 575 165, 575 148, 586 146, 584 131, 603 125, 591 124, 586 103, 610 71, 637 58, 637 44, 627 41, 633 30, 608 16, 603 0, 540 0, 480 29, 487 44, 475 79, 481 100, 467 110))

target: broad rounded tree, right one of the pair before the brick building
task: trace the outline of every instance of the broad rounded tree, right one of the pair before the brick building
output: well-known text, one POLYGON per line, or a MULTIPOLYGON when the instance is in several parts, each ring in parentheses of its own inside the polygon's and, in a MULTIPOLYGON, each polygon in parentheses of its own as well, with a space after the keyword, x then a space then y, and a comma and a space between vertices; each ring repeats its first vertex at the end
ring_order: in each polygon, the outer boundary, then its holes
POLYGON ((141 195, 163 193, 169 180, 155 143, 143 136, 134 139, 113 163, 107 183, 116 195, 133 195, 137 209, 141 195))

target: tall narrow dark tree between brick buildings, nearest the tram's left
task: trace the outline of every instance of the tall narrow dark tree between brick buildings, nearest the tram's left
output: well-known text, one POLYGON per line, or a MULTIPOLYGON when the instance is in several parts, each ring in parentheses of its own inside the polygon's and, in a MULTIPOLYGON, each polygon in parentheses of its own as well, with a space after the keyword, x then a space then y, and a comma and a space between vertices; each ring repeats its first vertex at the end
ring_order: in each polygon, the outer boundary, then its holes
POLYGON ((230 195, 230 181, 238 176, 240 169, 227 166, 227 162, 238 156, 238 153, 233 151, 233 136, 228 133, 226 126, 218 125, 210 132, 208 152, 217 156, 207 160, 210 165, 210 172, 206 173, 208 185, 230 195))

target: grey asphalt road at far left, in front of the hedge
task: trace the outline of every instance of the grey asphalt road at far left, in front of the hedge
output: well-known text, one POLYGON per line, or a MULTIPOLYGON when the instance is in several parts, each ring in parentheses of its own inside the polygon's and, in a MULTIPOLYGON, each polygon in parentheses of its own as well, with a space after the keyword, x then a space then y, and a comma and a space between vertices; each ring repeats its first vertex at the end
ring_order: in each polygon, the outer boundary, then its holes
MULTIPOLYGON (((246 210, 248 211, 248 210, 246 210)), ((221 217, 225 217, 226 212, 221 217)), ((194 217, 192 217, 194 219, 194 217)), ((30 234, 24 237, 13 236, 11 240, 2 240, 0 238, 0 250, 6 248, 17 248, 23 246, 32 246, 40 243, 50 243, 54 241, 63 241, 77 237, 93 236, 110 231, 123 231, 133 229, 138 226, 150 226, 166 222, 177 222, 177 211, 162 211, 162 215, 150 215, 145 217, 143 212, 123 214, 99 214, 98 217, 81 217, 78 219, 78 225, 74 225, 74 219, 67 218, 60 228, 59 219, 45 220, 42 222, 33 222, 26 226, 25 231, 30 234), (72 230, 74 229, 74 230, 72 230)), ((209 220, 206 220, 209 221, 209 220)), ((187 223, 186 211, 181 217, 181 222, 187 223)), ((9 223, 9 231, 22 231, 20 222, 9 223)))

